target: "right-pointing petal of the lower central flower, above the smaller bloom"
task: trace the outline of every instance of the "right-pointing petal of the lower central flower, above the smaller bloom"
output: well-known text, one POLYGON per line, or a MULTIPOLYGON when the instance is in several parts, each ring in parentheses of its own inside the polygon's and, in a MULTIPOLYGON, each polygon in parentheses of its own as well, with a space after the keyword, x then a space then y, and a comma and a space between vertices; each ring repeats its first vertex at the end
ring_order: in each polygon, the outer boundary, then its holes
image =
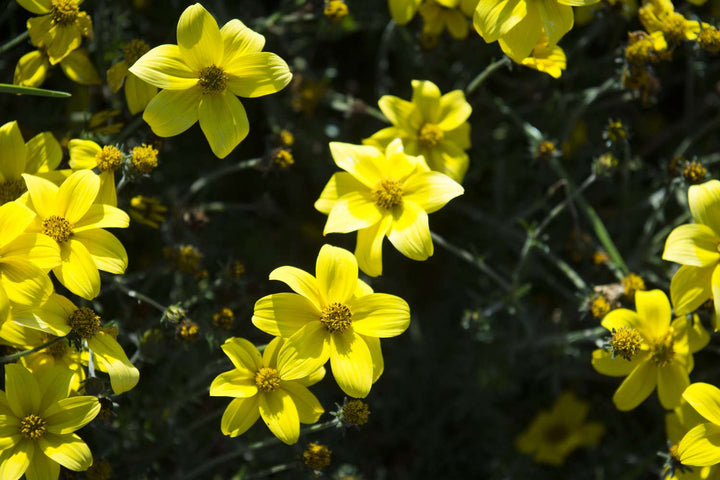
POLYGON ((396 337, 410 326, 410 307, 395 295, 373 293, 350 301, 353 329, 370 337, 396 337))

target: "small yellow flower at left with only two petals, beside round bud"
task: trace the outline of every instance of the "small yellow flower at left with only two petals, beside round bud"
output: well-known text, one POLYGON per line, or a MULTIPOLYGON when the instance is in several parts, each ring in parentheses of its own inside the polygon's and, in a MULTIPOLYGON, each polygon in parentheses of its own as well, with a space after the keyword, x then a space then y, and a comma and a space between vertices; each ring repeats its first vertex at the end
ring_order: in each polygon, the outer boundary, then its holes
POLYGON ((77 138, 70 140, 68 151, 70 152, 70 168, 73 170, 97 168, 100 171, 100 191, 95 203, 117 206, 115 171, 123 164, 123 153, 112 145, 101 147, 92 140, 77 138))

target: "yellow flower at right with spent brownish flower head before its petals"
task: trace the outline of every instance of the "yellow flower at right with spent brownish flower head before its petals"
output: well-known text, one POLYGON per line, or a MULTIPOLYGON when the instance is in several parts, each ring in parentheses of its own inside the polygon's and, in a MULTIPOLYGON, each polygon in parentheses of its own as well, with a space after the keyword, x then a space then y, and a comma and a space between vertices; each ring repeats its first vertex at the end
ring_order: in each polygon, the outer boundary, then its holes
POLYGON ((690 384, 692 353, 709 338, 690 333, 702 328, 699 322, 689 325, 679 317, 671 323, 670 302, 660 290, 638 291, 635 307, 637 312, 618 308, 605 316, 602 326, 612 333, 610 351, 595 350, 592 365, 603 375, 627 377, 613 396, 618 410, 637 407, 656 386, 662 406, 675 408, 690 384))

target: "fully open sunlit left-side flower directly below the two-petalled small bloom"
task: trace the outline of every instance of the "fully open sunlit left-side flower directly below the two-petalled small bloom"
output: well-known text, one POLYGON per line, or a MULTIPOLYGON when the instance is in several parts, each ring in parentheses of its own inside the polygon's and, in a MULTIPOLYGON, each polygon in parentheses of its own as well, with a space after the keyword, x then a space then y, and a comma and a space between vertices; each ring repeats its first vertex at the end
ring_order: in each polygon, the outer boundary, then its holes
POLYGON ((100 178, 89 170, 73 173, 60 187, 32 175, 23 177, 37 214, 29 231, 57 242, 61 263, 53 273, 68 290, 92 300, 100 293, 98 269, 120 274, 127 268, 125 247, 103 229, 125 228, 130 218, 116 207, 95 203, 100 178))

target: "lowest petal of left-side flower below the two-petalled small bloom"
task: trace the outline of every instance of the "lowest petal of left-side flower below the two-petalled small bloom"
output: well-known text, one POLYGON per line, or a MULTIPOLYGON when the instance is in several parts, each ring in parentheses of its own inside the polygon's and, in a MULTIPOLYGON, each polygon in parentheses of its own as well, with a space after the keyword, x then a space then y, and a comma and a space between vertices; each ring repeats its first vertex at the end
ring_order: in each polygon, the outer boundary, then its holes
POLYGON ((86 300, 100 294, 100 274, 95 262, 81 242, 70 239, 60 247, 62 263, 53 273, 65 288, 86 300))

